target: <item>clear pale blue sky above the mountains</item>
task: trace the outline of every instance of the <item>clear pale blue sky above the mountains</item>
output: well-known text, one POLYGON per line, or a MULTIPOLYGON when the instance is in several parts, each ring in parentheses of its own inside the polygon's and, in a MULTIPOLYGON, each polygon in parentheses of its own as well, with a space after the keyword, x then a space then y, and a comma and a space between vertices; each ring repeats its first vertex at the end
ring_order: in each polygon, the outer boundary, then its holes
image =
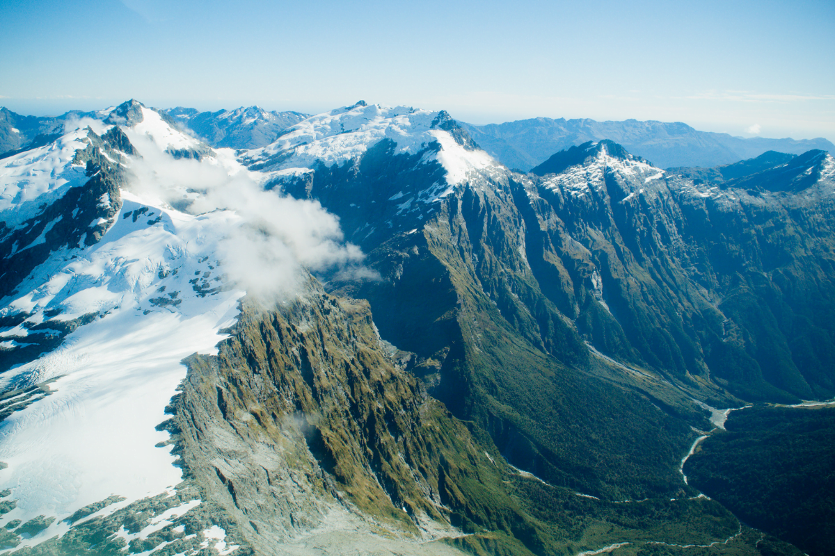
POLYGON ((835 142, 835 2, 0 0, 0 105, 358 100, 835 142))

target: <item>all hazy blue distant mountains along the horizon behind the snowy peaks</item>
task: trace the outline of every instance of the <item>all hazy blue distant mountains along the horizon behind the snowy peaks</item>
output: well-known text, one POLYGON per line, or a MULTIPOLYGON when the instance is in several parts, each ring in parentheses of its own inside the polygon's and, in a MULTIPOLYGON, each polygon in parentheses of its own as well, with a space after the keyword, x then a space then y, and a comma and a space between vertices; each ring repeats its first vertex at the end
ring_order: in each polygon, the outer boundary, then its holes
MULTIPOLYGON (((172 118, 172 124, 213 148, 266 147, 284 130, 308 118, 300 112, 267 111, 258 106, 200 112, 196 108, 153 108, 172 118)), ((57 138, 64 124, 79 118, 102 118, 100 113, 78 110, 61 116, 22 116, 0 108, 0 157, 20 148, 33 148, 57 138), (54 136, 50 138, 50 136, 54 136)), ((727 133, 701 132, 686 123, 596 122, 588 118, 566 120, 532 118, 477 126, 458 122, 487 153, 508 168, 527 172, 552 154, 586 143, 609 139, 658 168, 713 168, 756 158, 767 151, 802 154, 818 149, 835 153, 824 138, 740 138, 727 133)))

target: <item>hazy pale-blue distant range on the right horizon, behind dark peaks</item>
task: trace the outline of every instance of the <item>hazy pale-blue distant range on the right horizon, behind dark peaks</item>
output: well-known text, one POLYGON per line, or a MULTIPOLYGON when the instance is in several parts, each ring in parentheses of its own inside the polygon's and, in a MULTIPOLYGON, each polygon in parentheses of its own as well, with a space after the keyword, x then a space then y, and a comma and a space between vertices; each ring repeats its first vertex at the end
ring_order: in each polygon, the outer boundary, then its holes
POLYGON ((588 118, 532 118, 476 126, 461 123, 484 150, 508 168, 528 170, 552 154, 589 141, 609 139, 659 168, 703 167, 736 163, 767 151, 802 154, 812 149, 835 152, 823 138, 795 140, 738 138, 727 133, 700 132, 685 123, 596 122, 588 118))

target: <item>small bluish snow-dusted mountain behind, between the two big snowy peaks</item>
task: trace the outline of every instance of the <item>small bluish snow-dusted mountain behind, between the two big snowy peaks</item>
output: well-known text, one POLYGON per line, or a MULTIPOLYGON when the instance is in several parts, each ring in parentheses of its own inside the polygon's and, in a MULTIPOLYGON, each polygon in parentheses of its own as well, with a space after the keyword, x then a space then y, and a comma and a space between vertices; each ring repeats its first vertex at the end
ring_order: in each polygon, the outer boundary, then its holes
POLYGON ((165 113, 212 147, 238 149, 265 147, 286 128, 309 116, 298 112, 267 112, 257 106, 217 112, 178 107, 165 113))

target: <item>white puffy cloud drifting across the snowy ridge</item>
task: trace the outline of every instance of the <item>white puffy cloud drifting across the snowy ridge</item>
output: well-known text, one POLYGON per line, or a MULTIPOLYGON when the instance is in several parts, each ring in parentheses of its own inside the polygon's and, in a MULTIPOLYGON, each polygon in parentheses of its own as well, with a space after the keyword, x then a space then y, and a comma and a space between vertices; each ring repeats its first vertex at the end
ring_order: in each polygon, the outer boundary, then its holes
POLYGON ((274 302, 297 293, 309 272, 362 268, 360 248, 343 241, 338 218, 317 201, 265 191, 234 163, 175 160, 150 138, 125 132, 142 156, 131 161, 131 191, 183 212, 235 213, 217 249, 224 273, 247 293, 274 302))

